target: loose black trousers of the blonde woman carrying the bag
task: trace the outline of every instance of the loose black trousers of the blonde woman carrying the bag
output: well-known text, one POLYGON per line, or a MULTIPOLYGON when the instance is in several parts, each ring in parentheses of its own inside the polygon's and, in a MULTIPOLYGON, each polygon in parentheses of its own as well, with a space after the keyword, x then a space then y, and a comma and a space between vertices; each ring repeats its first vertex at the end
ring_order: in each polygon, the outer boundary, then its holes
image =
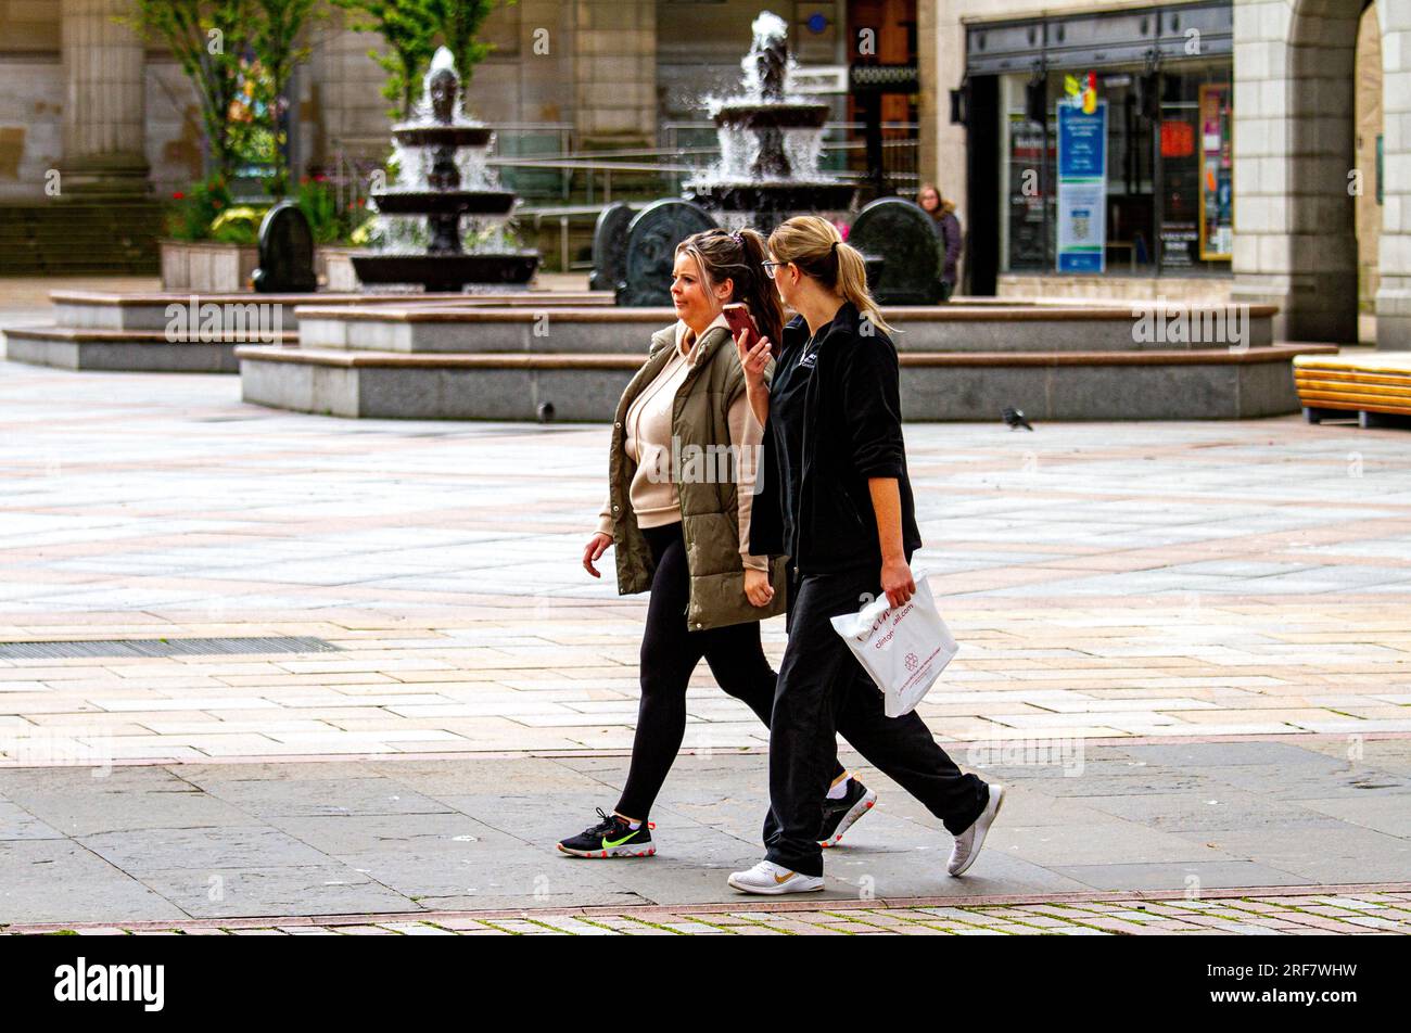
POLYGON ((769 731, 768 859, 803 875, 823 875, 818 827, 831 780, 837 734, 926 804, 952 834, 985 810, 989 786, 962 775, 916 713, 888 717, 882 691, 854 658, 831 617, 856 612, 862 596, 880 594, 879 566, 804 574, 789 586, 789 646, 779 666, 769 731))

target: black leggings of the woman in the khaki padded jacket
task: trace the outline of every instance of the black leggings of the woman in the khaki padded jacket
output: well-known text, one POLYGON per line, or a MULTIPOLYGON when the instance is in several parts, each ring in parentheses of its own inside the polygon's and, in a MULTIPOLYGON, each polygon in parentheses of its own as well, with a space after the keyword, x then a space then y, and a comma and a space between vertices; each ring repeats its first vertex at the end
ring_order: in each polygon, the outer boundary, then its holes
MULTIPOLYGON (((777 675, 759 645, 759 621, 724 628, 689 631, 686 605, 690 600, 690 572, 680 521, 660 528, 642 528, 652 548, 656 573, 646 607, 642 634, 642 704, 632 741, 632 766, 617 811, 645 821, 656 795, 672 771, 686 737, 686 686, 701 658, 715 682, 745 703, 769 727, 777 675)), ((832 778, 844 773, 837 751, 832 778)))

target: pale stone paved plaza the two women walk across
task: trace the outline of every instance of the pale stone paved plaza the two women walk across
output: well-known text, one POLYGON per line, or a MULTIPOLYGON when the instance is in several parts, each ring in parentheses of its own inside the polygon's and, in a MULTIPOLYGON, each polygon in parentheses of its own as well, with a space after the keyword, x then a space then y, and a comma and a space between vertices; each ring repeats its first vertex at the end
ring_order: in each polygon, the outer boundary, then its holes
POLYGON ((868 931, 920 899, 957 923, 909 931, 983 933, 1120 892, 1058 931, 1134 931, 1103 923, 1161 895, 1146 931, 1178 931, 1222 892, 1254 931, 1407 930, 1405 432, 909 425, 913 566, 961 642, 920 713, 1013 795, 945 879, 944 831, 859 768, 882 800, 785 922, 724 885, 759 852, 768 737, 704 665, 658 857, 553 851, 615 802, 636 713, 645 597, 579 566, 605 426, 350 422, 244 405, 236 377, 14 363, 0 412, 0 642, 117 642, 0 652, 0 923, 868 931), (602 920, 562 917, 583 907, 602 920))

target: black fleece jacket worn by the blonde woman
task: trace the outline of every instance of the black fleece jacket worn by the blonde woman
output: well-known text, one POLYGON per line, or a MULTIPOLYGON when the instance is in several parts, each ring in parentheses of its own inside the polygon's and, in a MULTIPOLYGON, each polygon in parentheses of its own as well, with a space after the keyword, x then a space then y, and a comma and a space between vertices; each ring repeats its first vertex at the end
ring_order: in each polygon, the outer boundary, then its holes
MULTIPOLYGON (((783 332, 775 382, 797 363, 809 342, 809 326, 796 316, 783 332)), ((902 497, 902 550, 921 548, 916 502, 906 473, 902 439, 902 388, 896 346, 872 323, 864 325, 851 302, 821 327, 810 358, 816 361, 804 389, 803 454, 790 456, 801 469, 799 497, 785 500, 789 484, 779 450, 785 432, 770 405, 758 471, 758 495, 749 524, 749 550, 789 553, 787 512, 797 515, 797 555, 790 564, 804 574, 882 566, 871 477, 896 477, 902 497), (864 333, 864 326, 868 333, 864 333)), ((793 430, 793 429, 792 429, 793 430)), ((790 437, 799 439, 797 433, 790 437)))

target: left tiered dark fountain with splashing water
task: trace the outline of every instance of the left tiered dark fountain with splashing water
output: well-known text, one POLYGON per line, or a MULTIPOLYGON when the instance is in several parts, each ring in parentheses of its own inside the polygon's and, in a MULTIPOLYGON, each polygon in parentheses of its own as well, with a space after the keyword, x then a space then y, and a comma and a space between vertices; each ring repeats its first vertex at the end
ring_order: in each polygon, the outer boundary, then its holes
POLYGON ((491 130, 461 113, 460 79, 444 47, 426 73, 418 117, 394 126, 392 138, 398 181, 373 192, 384 243, 378 253, 353 257, 358 279, 419 284, 426 291, 446 292, 467 285, 528 284, 539 267, 539 253, 504 247, 504 223, 515 195, 499 189, 485 165, 491 130), (411 224, 406 217, 412 217, 411 224), (418 233, 420 217, 426 220, 425 234, 418 233), (461 244, 461 220, 477 237, 468 251, 461 244), (420 236, 425 246, 416 247, 420 236))

